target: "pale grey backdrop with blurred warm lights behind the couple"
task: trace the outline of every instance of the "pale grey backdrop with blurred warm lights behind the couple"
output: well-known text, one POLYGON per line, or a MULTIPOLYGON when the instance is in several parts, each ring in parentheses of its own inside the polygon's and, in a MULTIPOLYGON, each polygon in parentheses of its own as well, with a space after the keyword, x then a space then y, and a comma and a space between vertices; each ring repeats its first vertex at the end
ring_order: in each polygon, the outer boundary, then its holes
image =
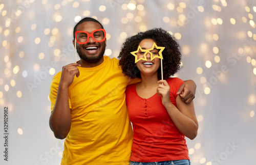
MULTIPOLYGON (((60 164, 63 140, 49 128, 49 87, 75 62, 73 27, 102 22, 105 55, 152 28, 173 34, 182 52, 175 75, 197 84, 198 136, 187 140, 192 164, 255 164, 256 1, 0 1, 0 132, 9 108, 9 159, 0 164, 60 164)), ((160 45, 161 46, 161 45, 160 45)))

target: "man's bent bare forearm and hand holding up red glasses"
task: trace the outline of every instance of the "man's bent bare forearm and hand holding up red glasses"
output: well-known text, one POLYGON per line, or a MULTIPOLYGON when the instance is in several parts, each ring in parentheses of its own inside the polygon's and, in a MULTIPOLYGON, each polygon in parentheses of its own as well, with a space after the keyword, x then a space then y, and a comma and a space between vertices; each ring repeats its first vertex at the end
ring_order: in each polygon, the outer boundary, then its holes
POLYGON ((71 127, 71 109, 69 108, 69 86, 74 77, 79 76, 79 64, 62 67, 56 102, 49 119, 49 125, 57 139, 65 139, 71 127))

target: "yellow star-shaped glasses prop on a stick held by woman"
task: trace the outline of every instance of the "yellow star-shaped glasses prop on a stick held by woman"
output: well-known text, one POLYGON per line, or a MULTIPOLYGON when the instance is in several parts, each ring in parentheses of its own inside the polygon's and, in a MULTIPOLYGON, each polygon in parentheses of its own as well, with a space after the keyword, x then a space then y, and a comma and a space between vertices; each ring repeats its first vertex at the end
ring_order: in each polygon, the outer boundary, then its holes
POLYGON ((133 54, 133 56, 135 57, 135 63, 137 63, 137 62, 140 61, 140 60, 147 61, 147 59, 146 59, 146 54, 147 54, 147 53, 150 53, 150 61, 154 60, 155 58, 161 59, 161 75, 162 75, 162 79, 163 79, 163 63, 162 63, 163 55, 162 55, 162 51, 163 51, 164 48, 165 48, 165 47, 157 46, 157 44, 154 42, 153 45, 152 45, 152 48, 150 48, 150 49, 142 49, 142 48, 140 47, 140 45, 139 45, 139 46, 138 46, 138 49, 137 49, 136 51, 132 51, 132 52, 130 52, 130 53, 133 54), (156 47, 156 48, 155 48, 155 47, 156 47), (152 53, 151 51, 154 50, 154 48, 155 48, 155 49, 160 49, 160 51, 158 52, 159 56, 154 56, 154 57, 153 57, 153 53, 152 53), (139 58, 139 59, 138 59, 138 55, 136 54, 136 53, 138 53, 138 52, 144 52, 144 53, 143 53, 143 57, 144 57, 144 58, 139 58))

